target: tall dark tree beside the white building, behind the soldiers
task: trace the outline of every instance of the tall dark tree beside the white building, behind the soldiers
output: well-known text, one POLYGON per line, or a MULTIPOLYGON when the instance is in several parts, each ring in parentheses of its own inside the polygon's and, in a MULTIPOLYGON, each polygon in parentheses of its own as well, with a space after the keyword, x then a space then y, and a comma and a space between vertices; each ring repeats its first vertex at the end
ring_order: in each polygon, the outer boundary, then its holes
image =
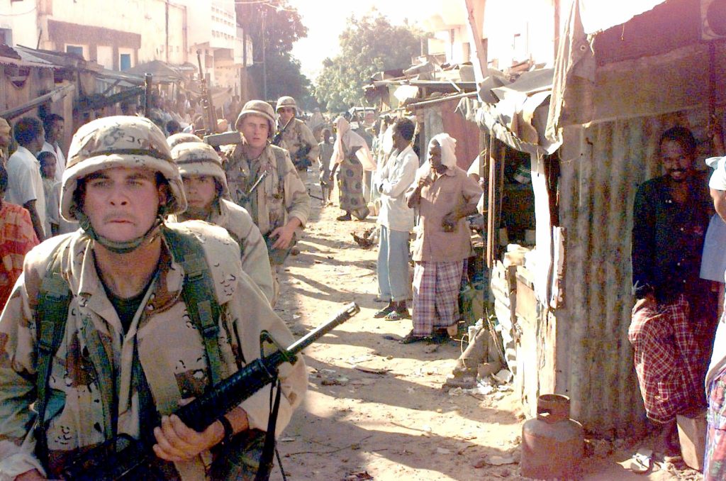
POLYGON ((238 3, 235 8, 237 19, 252 40, 255 65, 250 74, 258 96, 264 95, 266 70, 266 100, 292 95, 301 105, 314 102, 310 80, 301 73, 300 62, 290 54, 295 41, 308 35, 298 11, 287 0, 238 3), (266 69, 262 68, 264 64, 266 69))

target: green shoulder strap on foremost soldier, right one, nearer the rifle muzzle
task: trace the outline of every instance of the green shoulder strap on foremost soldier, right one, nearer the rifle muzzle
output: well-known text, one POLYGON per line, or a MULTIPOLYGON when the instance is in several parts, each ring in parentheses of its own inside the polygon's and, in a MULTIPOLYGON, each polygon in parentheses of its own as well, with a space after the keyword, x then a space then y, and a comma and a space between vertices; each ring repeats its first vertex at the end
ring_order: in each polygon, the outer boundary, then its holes
POLYGON ((221 309, 216 301, 212 274, 209 272, 204 250, 193 235, 168 227, 163 227, 163 233, 174 259, 184 267, 181 297, 187 305, 189 318, 202 334, 212 384, 217 384, 224 379, 219 349, 221 309))

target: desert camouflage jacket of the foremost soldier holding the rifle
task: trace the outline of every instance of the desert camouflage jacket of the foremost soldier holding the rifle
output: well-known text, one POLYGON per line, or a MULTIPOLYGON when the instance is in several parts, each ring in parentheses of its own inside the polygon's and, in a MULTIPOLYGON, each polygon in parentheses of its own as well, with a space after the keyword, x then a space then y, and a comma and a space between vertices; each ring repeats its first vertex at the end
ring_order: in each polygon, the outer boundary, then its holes
MULTIPOLYGON (((282 344, 293 340, 261 291, 242 272, 239 248, 223 229, 197 221, 169 227, 192 233, 203 243, 221 307, 219 345, 222 371, 227 371, 223 376, 259 357, 262 330, 270 331, 282 344)), ((179 407, 179 400, 202 394, 208 385, 203 342, 181 299, 184 272, 166 244, 157 275, 124 335, 96 272, 93 243, 81 231, 51 238, 28 253, 23 277, 0 318, 2 480, 41 469, 33 453, 36 440, 31 429, 37 356, 34 314, 49 259, 65 239, 69 242, 59 252, 72 299, 49 381, 46 419, 50 420, 47 440, 52 472, 81 448, 108 439, 113 430, 139 436, 139 397, 131 382, 134 351, 160 414, 171 413, 179 407), (112 412, 118 413, 115 429, 112 412)), ((301 403, 307 376, 301 361, 282 365, 280 374, 283 395, 278 433, 301 403)), ((266 430, 269 396, 268 387, 241 403, 250 429, 266 430)), ((208 475, 212 460, 212 453, 205 451, 175 466, 182 480, 200 480, 208 475)))

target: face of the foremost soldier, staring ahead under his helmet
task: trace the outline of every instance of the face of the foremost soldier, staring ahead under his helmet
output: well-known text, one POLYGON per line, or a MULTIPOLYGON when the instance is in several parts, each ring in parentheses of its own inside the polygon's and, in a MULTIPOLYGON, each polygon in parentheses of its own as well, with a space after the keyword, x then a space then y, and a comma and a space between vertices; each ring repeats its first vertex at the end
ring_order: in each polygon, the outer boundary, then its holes
POLYGON ((139 238, 154 224, 166 190, 155 172, 114 167, 86 177, 83 213, 97 234, 116 242, 139 238))

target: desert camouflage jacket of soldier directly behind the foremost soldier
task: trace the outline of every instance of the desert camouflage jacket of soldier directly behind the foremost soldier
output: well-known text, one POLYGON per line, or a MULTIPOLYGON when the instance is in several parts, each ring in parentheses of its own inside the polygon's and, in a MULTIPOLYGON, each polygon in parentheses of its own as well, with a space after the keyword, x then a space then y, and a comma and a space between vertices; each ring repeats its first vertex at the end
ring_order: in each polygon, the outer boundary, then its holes
MULTIPOLYGON (((168 219, 170 222, 185 220, 184 214, 171 215, 168 219)), ((267 300, 272 301, 274 289, 267 246, 250 213, 234 202, 219 199, 219 209, 205 221, 227 229, 229 235, 240 245, 242 270, 255 281, 267 300)))

